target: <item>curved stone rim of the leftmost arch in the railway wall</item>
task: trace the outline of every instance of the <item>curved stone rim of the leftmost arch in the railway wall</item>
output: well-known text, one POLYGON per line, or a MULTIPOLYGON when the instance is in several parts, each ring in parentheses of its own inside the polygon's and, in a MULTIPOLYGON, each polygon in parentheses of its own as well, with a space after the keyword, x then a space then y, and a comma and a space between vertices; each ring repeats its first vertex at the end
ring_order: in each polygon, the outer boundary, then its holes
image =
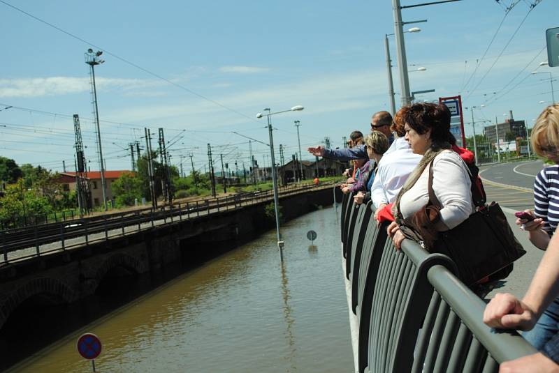
POLYGON ((42 296, 46 303, 71 303, 78 298, 75 291, 64 282, 52 277, 38 277, 17 287, 3 303, 0 304, 0 328, 8 317, 25 300, 35 296, 42 296))

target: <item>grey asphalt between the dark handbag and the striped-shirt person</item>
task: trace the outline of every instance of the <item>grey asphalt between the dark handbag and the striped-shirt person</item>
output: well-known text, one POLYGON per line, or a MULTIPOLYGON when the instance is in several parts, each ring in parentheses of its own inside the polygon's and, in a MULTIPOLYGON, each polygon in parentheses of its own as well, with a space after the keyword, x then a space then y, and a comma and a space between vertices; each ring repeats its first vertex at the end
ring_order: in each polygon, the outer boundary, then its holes
POLYGON ((514 271, 500 282, 500 286, 487 298, 495 293, 507 292, 522 297, 534 276, 544 252, 536 248, 528 240, 528 234, 518 228, 514 217, 515 211, 534 208, 532 188, 537 173, 544 167, 542 161, 509 162, 498 165, 480 167, 480 176, 484 181, 488 201, 500 204, 512 231, 523 245, 526 254, 514 264, 514 271))

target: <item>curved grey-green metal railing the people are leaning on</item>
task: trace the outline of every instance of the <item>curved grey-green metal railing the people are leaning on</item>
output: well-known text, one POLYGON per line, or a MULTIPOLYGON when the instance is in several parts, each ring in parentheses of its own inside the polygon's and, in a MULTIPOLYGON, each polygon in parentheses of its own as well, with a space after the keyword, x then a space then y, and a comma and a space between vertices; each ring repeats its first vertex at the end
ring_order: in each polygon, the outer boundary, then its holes
POLYGON ((499 363, 536 352, 516 332, 484 325, 485 303, 453 275, 449 257, 410 240, 395 250, 387 224, 377 227, 370 218, 373 206, 355 207, 349 198, 354 211, 342 214, 355 227, 351 240, 351 227, 342 227, 342 240, 359 372, 498 372, 499 363))

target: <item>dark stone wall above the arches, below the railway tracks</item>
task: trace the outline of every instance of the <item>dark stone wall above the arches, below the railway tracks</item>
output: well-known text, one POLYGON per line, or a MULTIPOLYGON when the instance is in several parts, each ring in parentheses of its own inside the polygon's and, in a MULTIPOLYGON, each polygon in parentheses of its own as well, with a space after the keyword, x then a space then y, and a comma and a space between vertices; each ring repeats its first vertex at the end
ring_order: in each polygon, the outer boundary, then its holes
MULTIPOLYGON (((0 328, 26 300, 41 305, 73 303, 95 293, 110 271, 164 271, 192 250, 209 250, 226 241, 228 248, 275 227, 262 202, 236 210, 175 221, 136 234, 110 238, 65 252, 55 252, 0 269, 0 328)), ((333 203, 332 189, 313 190, 281 199, 284 220, 333 203)))

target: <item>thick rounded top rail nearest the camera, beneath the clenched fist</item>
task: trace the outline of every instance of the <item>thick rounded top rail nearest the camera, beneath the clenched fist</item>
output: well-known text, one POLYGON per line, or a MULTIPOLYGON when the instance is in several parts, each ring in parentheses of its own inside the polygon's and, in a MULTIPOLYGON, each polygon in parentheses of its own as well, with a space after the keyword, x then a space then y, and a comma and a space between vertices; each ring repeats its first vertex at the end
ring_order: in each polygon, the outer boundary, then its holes
POLYGON ((435 265, 429 269, 427 277, 453 312, 472 330, 477 340, 498 363, 537 352, 516 332, 496 333, 488 328, 482 321, 486 303, 467 289, 447 268, 435 265))

